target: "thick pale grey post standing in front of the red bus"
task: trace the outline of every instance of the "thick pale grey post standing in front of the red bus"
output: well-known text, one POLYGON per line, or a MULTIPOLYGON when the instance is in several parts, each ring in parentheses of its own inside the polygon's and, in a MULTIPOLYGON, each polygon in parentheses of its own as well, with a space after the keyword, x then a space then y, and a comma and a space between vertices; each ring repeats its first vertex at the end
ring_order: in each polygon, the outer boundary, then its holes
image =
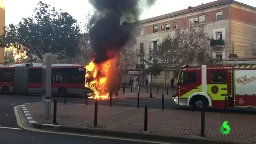
POLYGON ((42 114, 45 118, 51 117, 51 53, 43 55, 42 67, 42 114))

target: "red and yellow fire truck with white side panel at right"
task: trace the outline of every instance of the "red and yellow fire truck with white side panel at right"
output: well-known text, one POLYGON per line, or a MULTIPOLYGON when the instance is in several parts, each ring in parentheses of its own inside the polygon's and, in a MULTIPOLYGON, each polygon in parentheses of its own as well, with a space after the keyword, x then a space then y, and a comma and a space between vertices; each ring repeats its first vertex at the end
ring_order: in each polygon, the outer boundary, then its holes
POLYGON ((256 62, 181 68, 174 102, 194 108, 256 107, 256 62), (246 63, 246 64, 245 64, 246 63))

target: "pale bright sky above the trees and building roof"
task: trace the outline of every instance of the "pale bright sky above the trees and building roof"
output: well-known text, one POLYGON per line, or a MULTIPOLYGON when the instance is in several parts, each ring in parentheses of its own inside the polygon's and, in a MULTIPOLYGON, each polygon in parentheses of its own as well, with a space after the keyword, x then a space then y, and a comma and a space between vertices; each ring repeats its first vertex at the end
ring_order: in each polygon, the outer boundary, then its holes
MULTIPOLYGON (((34 8, 40 0, 4 0, 5 1, 5 25, 17 24, 23 17, 29 17, 33 14, 34 8)), ((93 7, 88 0, 41 0, 46 4, 50 4, 56 9, 67 11, 78 21, 84 21, 86 14, 93 11, 93 7)), ((167 14, 170 12, 186 9, 189 6, 197 6, 212 2, 215 0, 157 0, 155 5, 150 9, 143 9, 140 20, 150 17, 167 14)), ((236 0, 247 5, 256 7, 254 0, 236 0)), ((142 2, 141 2, 142 4, 142 2)))

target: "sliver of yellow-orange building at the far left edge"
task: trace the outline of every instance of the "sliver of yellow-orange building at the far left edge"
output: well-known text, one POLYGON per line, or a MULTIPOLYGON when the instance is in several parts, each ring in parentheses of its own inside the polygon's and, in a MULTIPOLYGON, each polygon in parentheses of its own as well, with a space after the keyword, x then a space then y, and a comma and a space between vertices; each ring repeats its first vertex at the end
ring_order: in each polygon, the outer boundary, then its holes
MULTIPOLYGON (((4 10, 4 0, 0 0, 0 35, 4 33, 5 27, 5 10, 4 10)), ((0 48, 0 64, 4 64, 5 59, 5 48, 0 48)))

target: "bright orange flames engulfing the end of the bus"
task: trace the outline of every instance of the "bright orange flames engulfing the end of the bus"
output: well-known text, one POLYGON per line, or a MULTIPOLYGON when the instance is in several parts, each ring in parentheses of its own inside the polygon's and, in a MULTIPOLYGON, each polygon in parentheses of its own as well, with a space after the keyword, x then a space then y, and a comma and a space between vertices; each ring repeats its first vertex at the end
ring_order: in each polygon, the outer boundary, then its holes
POLYGON ((85 66, 85 87, 90 88, 93 91, 93 96, 88 98, 107 99, 109 97, 109 93, 107 91, 109 67, 110 60, 100 64, 96 64, 92 60, 89 65, 85 66))

